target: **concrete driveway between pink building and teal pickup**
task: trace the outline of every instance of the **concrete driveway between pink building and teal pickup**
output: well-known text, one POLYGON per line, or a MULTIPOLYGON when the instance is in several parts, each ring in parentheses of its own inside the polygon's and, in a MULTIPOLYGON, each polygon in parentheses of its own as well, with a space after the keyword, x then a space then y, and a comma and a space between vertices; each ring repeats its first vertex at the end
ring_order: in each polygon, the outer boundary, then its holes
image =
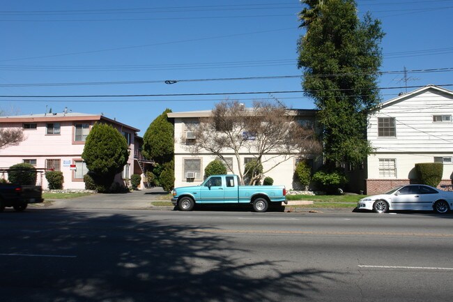
MULTIPOLYGON (((152 201, 167 195, 162 188, 149 188, 121 194, 93 194, 75 199, 52 199, 52 209, 153 209, 152 201)), ((167 201, 170 201, 168 199, 167 201)), ((159 209, 173 209, 173 206, 159 206, 159 209)))

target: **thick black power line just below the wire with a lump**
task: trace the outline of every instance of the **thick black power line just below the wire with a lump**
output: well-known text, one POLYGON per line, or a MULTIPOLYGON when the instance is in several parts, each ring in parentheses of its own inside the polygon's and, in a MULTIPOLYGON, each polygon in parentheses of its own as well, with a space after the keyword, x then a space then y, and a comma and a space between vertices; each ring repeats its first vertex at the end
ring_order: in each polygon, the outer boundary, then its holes
MULTIPOLYGON (((453 86, 453 84, 439 84, 437 86, 453 86)), ((422 86, 408 86, 407 88, 420 88, 422 86)), ((380 87, 376 90, 404 89, 406 86, 380 87)), ((335 92, 369 89, 319 89, 313 91, 289 90, 289 91, 242 91, 242 92, 211 92, 211 93, 158 93, 158 94, 116 94, 116 95, 67 95, 67 96, 1 96, 0 98, 141 98, 162 96, 225 96, 247 94, 270 94, 270 93, 307 93, 307 92, 335 92)))

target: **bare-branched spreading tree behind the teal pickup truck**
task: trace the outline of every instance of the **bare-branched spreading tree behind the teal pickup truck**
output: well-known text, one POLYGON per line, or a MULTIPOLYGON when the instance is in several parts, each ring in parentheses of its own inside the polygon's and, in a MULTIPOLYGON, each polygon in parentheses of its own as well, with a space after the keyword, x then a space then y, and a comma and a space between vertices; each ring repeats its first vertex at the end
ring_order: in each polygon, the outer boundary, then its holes
MULTIPOLYGON (((186 149, 192 153, 208 152, 222 159, 224 153, 233 152, 241 183, 247 174, 243 171, 241 154, 249 153, 258 163, 268 163, 266 172, 269 172, 295 156, 321 152, 314 128, 302 126, 297 110, 289 110, 279 102, 255 101, 252 108, 246 108, 237 100, 223 101, 215 105, 211 116, 200 119, 194 132, 197 138, 186 149)), ((229 169, 233 171, 233 167, 229 169)), ((249 182, 259 180, 263 173, 249 182)))

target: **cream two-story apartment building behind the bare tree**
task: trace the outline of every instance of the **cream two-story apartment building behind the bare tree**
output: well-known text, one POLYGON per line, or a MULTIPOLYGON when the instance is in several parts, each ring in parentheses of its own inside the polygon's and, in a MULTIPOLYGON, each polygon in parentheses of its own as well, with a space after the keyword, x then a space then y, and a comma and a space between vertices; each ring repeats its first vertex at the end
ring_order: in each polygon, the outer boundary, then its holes
MULTIPOLYGON (((293 110, 297 114, 298 120, 304 124, 315 124, 316 110, 293 110)), ((194 111, 194 112, 171 112, 168 114, 169 119, 174 121, 174 137, 175 137, 175 187, 178 186, 193 186, 200 184, 204 180, 204 169, 211 161, 217 156, 208 151, 201 151, 199 153, 191 153, 187 148, 191 144, 194 136, 193 126, 199 123, 200 119, 211 116, 212 111, 194 111)), ((222 153, 224 160, 229 161, 229 165, 233 167, 229 174, 238 174, 238 169, 244 169, 245 165, 256 158, 256 153, 250 153, 249 150, 243 149, 239 153, 240 167, 236 160, 233 150, 225 150, 222 153)), ((298 154, 276 154, 269 153, 263 158, 263 169, 266 171, 271 165, 275 165, 281 161, 277 167, 266 173, 266 176, 272 177, 275 184, 284 185, 287 189, 295 188, 293 181, 293 174, 295 165, 300 158, 298 154), (268 158, 275 158, 267 161, 268 158)), ((322 165, 322 157, 304 158, 307 160, 316 171, 322 165)))

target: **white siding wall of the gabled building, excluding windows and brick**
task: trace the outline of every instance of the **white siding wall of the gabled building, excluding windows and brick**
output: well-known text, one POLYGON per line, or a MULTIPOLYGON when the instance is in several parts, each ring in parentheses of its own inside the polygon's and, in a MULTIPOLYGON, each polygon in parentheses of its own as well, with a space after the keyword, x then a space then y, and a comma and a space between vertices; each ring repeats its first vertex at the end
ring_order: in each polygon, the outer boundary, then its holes
MULTIPOLYGON (((367 131, 376 148, 368 158, 368 179, 379 176, 379 159, 396 159, 396 179, 415 179, 416 163, 433 163, 434 157, 453 156, 453 123, 433 121, 434 115, 453 115, 453 93, 435 87, 420 89, 383 103, 369 116, 367 131), (378 137, 378 118, 394 117, 396 137, 378 137)), ((451 179, 453 165, 444 164, 443 179, 451 179)))

